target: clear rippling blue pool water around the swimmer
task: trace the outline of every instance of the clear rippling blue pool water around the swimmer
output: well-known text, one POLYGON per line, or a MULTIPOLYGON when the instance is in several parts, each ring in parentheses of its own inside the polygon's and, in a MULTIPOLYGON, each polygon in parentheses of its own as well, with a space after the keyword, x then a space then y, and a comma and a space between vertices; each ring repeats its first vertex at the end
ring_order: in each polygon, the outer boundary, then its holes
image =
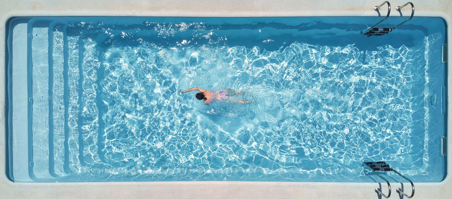
POLYGON ((376 19, 31 19, 31 179, 441 181, 444 22, 359 34, 376 19))

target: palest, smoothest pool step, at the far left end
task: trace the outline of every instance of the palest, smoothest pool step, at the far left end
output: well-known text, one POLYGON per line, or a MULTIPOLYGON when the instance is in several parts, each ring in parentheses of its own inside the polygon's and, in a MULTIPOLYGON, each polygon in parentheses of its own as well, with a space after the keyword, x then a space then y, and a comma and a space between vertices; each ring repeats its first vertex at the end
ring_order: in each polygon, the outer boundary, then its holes
POLYGON ((12 19, 9 27, 8 38, 8 76, 12 78, 12 89, 8 90, 9 101, 12 105, 9 109, 9 120, 12 125, 9 136, 12 141, 9 143, 9 177, 14 181, 33 181, 29 170, 31 161, 28 156, 31 147, 28 139, 28 78, 27 78, 27 57, 28 52, 28 20, 12 19), (14 41, 14 45, 13 45, 14 41), (24 95, 25 94, 25 95, 24 95), (25 121, 25 122, 24 122, 25 121), (14 148, 12 146, 14 146, 14 148), (12 168, 12 169, 11 169, 12 168))

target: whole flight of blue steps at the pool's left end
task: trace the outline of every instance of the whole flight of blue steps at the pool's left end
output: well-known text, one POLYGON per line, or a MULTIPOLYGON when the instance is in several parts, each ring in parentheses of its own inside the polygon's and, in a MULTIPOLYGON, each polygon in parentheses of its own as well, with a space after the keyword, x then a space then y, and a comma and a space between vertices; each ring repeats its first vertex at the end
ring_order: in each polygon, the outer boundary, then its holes
POLYGON ((102 162, 103 66, 89 46, 95 43, 86 42, 99 30, 68 34, 77 27, 49 18, 14 18, 9 24, 11 180, 64 181, 83 165, 102 162))

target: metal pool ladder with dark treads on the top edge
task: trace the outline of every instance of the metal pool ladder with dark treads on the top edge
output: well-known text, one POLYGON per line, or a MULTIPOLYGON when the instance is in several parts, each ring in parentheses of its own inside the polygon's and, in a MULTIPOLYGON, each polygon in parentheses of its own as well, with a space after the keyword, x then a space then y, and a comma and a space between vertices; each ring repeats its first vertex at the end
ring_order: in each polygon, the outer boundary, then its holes
MULTIPOLYGON (((406 4, 404 4, 404 5, 402 5, 402 6, 397 6, 397 7, 395 8, 395 10, 397 10, 397 11, 400 12, 400 11, 402 10, 402 8, 405 7, 406 5, 411 5, 411 16, 410 16, 410 19, 406 19, 404 22, 400 23, 399 25, 394 26, 394 28, 377 28, 377 26, 378 26, 379 24, 381 24, 381 22, 383 22, 384 20, 388 19, 389 14, 391 13, 391 4, 389 4, 388 1, 385 1, 385 2, 383 2, 382 4, 376 5, 375 7, 373 7, 373 9, 374 9, 375 11, 378 12, 378 10, 380 10, 380 7, 381 7, 382 5, 385 5, 385 4, 388 5, 388 13, 386 14, 385 19, 382 19, 380 22, 378 22, 377 24, 373 25, 371 28, 367 28, 367 29, 365 29, 365 30, 362 30, 362 31, 361 31, 361 34, 364 34, 364 35, 366 35, 367 37, 370 37, 370 36, 381 36, 381 35, 385 35, 385 34, 391 32, 392 30, 394 30, 395 28, 399 27, 400 25, 405 24, 406 22, 410 21, 410 20, 413 18, 413 15, 414 15, 414 5, 413 5, 413 3, 411 3, 411 2, 407 2, 406 4)), ((400 14, 400 15, 401 15, 401 14, 400 14)))

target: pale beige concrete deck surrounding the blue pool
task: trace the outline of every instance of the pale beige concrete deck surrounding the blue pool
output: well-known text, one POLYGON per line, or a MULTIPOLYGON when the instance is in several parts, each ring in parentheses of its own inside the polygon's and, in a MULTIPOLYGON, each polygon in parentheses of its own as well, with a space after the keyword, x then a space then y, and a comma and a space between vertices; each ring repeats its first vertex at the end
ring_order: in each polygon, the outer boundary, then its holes
MULTIPOLYGON (((0 0, 3 25, 0 26, 0 55, 5 57, 5 24, 16 16, 181 16, 181 17, 279 17, 279 16, 377 16, 375 5, 383 1, 312 1, 312 0, 0 0)), ((442 17, 447 22, 447 33, 452 34, 452 1, 414 0, 414 16, 442 17)), ((390 1, 391 16, 398 16, 396 6, 405 0, 390 1)), ((384 5, 386 6, 386 5, 384 5)), ((384 7, 383 6, 383 7, 384 7)), ((383 9, 386 12, 386 8, 383 9)), ((404 16, 410 14, 404 9, 404 16)), ((448 45, 448 60, 452 60, 448 45)), ((0 64, 5 66, 5 59, 0 64)), ((5 104, 5 72, 1 70, 1 103, 5 104)), ((451 76, 452 71, 448 70, 451 76)), ((451 88, 452 80, 447 79, 451 88)), ((449 92, 450 95, 450 92, 449 92)), ((449 101, 447 107, 451 107, 449 101)), ((0 108, 5 115, 5 105, 0 108)), ((14 183, 6 176, 5 129, 6 118, 0 124, 0 198, 378 198, 374 192, 378 183, 327 182, 90 182, 90 183, 14 183)), ((447 111, 447 129, 451 129, 451 112, 447 111)), ((447 141, 447 150, 452 142, 447 141)), ((447 165, 451 165, 447 158, 447 165)), ((447 166, 447 173, 452 169, 447 166)), ((391 183, 391 198, 400 183, 391 183)), ((386 185, 382 184, 387 193, 386 185)), ((414 198, 447 198, 452 194, 452 177, 442 182, 415 183, 414 198)), ((404 183, 410 194, 409 184, 404 183)))

